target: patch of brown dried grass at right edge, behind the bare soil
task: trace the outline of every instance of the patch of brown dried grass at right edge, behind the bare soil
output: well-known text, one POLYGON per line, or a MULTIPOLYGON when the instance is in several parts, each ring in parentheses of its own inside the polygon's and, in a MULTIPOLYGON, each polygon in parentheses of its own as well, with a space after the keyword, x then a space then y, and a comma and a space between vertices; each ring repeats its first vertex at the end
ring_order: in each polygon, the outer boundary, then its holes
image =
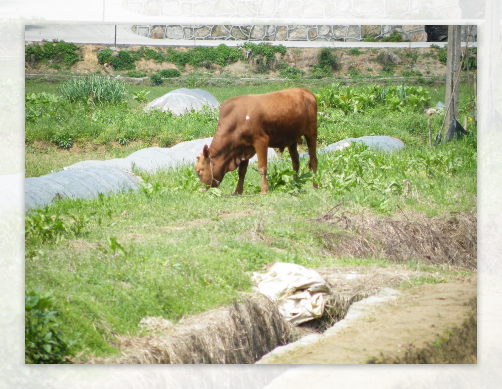
POLYGON ((325 248, 335 256, 380 257, 398 263, 422 260, 476 268, 475 213, 450 212, 433 218, 403 213, 401 219, 379 219, 349 211, 337 214, 337 210, 316 219, 342 228, 323 232, 325 248))

